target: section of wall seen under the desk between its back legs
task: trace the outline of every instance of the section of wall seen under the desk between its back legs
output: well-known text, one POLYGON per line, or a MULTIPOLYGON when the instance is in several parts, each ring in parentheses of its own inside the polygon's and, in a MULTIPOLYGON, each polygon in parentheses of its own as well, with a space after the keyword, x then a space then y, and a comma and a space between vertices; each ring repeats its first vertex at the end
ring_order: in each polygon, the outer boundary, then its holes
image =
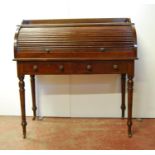
POLYGON ((37 112, 39 116, 118 117, 120 87, 120 75, 114 74, 37 76, 37 112))

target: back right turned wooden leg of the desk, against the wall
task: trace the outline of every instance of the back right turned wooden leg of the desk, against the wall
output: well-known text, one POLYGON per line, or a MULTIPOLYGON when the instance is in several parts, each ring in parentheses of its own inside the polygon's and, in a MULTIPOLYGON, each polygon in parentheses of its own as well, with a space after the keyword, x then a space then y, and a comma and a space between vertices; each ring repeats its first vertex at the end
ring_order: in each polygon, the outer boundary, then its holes
POLYGON ((122 109, 122 118, 124 118, 125 114, 125 84, 126 84, 126 74, 121 75, 121 93, 122 93, 122 104, 121 104, 121 109, 122 109))

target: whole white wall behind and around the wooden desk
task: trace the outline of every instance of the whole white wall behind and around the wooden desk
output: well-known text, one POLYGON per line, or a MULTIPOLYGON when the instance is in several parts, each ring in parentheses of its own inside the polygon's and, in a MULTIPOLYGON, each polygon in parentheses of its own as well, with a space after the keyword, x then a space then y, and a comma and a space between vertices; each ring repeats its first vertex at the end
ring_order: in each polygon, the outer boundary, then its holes
MULTIPOLYGON (((128 1, 129 2, 129 1, 128 1)), ((0 1, 0 115, 20 115, 13 37, 22 19, 130 17, 136 24, 138 57, 134 117, 155 117, 155 5, 104 3, 103 0, 0 1)), ((31 111, 29 77, 26 110, 31 111)), ((120 117, 119 75, 37 76, 37 103, 42 116, 120 117)))

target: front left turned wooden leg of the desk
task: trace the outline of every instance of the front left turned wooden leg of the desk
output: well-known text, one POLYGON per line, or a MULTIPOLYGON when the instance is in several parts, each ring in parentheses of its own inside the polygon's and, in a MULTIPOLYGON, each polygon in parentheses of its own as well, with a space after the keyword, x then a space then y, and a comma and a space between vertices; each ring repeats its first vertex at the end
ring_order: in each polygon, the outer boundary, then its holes
POLYGON ((22 114, 22 128, 23 128, 23 138, 26 138, 26 112, 25 112, 25 83, 24 75, 18 76, 19 78, 19 94, 20 94, 20 104, 21 104, 21 114, 22 114))

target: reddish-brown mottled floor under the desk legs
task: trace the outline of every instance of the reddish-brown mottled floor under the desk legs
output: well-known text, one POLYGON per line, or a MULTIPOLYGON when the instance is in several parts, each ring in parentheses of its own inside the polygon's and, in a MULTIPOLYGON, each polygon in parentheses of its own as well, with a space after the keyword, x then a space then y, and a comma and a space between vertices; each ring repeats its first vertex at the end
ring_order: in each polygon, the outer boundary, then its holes
POLYGON ((133 120, 128 138, 126 119, 27 118, 27 138, 22 138, 20 117, 0 117, 1 150, 152 150, 155 119, 133 120))

